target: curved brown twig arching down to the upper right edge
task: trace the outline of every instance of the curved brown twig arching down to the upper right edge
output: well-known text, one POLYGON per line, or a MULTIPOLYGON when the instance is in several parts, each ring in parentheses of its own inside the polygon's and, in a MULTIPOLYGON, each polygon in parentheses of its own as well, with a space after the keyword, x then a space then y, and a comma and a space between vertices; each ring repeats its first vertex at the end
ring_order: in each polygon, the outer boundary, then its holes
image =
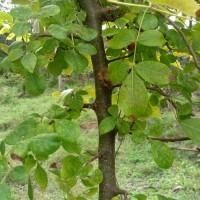
POLYGON ((188 50, 190 51, 193 59, 194 59, 194 62, 195 62, 195 65, 196 65, 196 68, 200 71, 200 61, 194 51, 194 49, 192 48, 192 45, 190 44, 190 42, 188 41, 187 37, 185 36, 185 34, 183 33, 183 31, 179 28, 179 26, 174 23, 171 19, 169 19, 165 14, 162 14, 165 17, 165 19, 178 31, 178 33, 182 36, 183 40, 185 41, 185 44, 188 48, 188 50))

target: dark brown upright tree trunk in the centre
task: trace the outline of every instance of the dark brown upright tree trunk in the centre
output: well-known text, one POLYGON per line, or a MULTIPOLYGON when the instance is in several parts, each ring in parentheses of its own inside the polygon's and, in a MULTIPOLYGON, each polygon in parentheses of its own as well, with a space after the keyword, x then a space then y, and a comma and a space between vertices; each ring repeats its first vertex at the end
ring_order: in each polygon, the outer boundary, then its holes
MULTIPOLYGON (((98 124, 100 124, 104 118, 109 116, 107 110, 111 105, 112 94, 112 90, 105 87, 98 80, 98 73, 108 66, 102 38, 103 8, 100 7, 95 0, 80 0, 79 5, 81 9, 85 10, 87 13, 87 27, 95 29, 98 32, 98 36, 93 40, 93 45, 97 49, 97 54, 92 56, 92 64, 96 87, 96 100, 94 105, 98 124)), ((103 182, 99 186, 99 200, 111 200, 114 196, 119 194, 115 175, 114 131, 99 136, 98 150, 101 155, 103 155, 99 158, 99 168, 103 173, 103 182)))

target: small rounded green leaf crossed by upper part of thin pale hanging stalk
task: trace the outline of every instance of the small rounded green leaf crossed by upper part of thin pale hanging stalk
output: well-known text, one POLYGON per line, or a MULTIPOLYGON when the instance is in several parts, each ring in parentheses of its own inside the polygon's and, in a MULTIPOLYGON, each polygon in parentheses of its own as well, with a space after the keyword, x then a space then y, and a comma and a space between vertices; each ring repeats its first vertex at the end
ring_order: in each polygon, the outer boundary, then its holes
POLYGON ((158 19, 153 14, 145 14, 144 18, 143 14, 140 14, 137 18, 137 23, 139 26, 141 25, 143 30, 153 30, 158 26, 158 19))

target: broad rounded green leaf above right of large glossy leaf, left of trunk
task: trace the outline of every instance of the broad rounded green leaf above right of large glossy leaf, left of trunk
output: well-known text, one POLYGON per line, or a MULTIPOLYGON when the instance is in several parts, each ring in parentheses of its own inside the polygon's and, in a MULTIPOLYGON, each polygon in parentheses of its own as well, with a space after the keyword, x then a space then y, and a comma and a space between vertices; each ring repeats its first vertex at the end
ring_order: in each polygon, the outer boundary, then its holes
POLYGON ((55 128, 60 139, 65 142, 75 142, 81 135, 81 128, 67 119, 55 120, 55 128))

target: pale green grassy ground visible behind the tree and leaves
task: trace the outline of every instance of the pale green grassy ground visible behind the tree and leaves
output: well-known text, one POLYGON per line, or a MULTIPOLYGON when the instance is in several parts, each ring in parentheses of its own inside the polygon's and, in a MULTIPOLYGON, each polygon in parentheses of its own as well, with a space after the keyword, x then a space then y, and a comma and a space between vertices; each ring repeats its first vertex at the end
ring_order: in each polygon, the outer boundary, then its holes
MULTIPOLYGON (((0 81, 1 83, 1 81, 0 81)), ((30 112, 45 112, 55 99, 51 92, 37 98, 17 98, 20 91, 11 85, 1 85, 0 104, 0 136, 3 137, 30 112)), ((163 114, 165 130, 168 136, 178 135, 172 113, 163 114)), ((77 121, 84 134, 80 137, 80 143, 84 149, 96 150, 98 144, 96 117, 92 111, 82 112, 77 121)), ((117 141, 117 147, 120 142, 117 141)), ((170 144, 174 146, 193 146, 191 142, 170 144)), ((116 148, 117 148, 116 147, 116 148)), ((116 157, 118 184, 132 195, 142 193, 148 195, 149 200, 156 200, 156 194, 163 194, 177 200, 200 200, 200 157, 196 152, 175 151, 175 162, 168 170, 157 167, 150 155, 149 144, 136 145, 126 138, 116 157)), ((64 152, 59 152, 51 157, 51 161, 59 160, 64 152)), ((50 161, 50 162, 51 162, 50 161)), ((27 186, 23 183, 12 186, 13 199, 27 200, 27 186)), ((50 177, 49 187, 46 193, 42 193, 36 185, 35 199, 59 200, 62 193, 56 186, 53 177, 50 177)), ((131 197, 130 199, 134 199, 131 197)))

